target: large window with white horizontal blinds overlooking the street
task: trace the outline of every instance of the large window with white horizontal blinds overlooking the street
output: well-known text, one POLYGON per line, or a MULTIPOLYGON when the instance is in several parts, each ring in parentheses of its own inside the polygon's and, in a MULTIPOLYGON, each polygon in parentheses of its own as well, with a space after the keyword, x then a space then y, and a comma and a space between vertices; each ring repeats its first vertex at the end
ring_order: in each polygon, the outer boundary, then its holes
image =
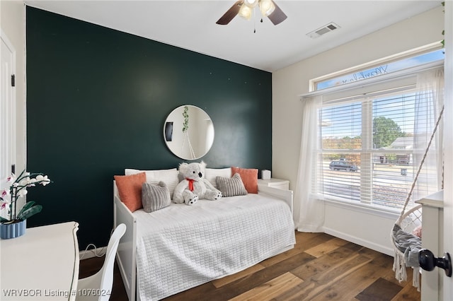
MULTIPOLYGON (((433 96, 437 92, 420 90, 417 78, 415 74, 323 95, 314 157, 317 194, 334 201, 402 208, 439 109, 433 96)), ((437 148, 436 143, 430 146, 410 206, 413 199, 439 190, 437 148)))

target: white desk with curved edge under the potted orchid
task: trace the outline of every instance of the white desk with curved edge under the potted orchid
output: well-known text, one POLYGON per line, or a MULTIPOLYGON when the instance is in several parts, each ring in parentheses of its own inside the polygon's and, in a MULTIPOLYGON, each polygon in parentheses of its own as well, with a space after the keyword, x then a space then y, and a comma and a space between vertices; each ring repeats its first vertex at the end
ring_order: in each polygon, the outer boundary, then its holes
POLYGON ((79 223, 28 228, 0 240, 0 300, 75 300, 79 223))

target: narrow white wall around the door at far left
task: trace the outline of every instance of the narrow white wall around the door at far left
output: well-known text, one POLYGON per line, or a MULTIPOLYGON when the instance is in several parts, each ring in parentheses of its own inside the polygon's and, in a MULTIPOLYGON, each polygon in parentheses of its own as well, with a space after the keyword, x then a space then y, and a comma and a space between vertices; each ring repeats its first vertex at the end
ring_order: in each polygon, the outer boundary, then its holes
POLYGON ((0 1, 0 27, 16 50, 16 172, 25 167, 25 5, 0 1))

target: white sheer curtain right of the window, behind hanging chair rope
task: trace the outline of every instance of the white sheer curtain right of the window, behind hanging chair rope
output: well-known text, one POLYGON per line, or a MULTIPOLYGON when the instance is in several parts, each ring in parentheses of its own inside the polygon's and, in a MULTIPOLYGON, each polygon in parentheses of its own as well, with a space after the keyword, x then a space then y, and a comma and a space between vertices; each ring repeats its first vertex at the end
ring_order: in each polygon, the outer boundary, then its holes
MULTIPOLYGON (((419 166, 428 146, 432 131, 444 105, 444 69, 443 67, 418 73, 415 94, 415 124, 413 160, 419 166)), ((437 127, 423 168, 418 177, 417 188, 413 191, 413 200, 420 199, 442 189, 443 166, 443 122, 437 127), (437 170, 437 174, 432 172, 437 170), (431 182, 431 185, 428 184, 431 182), (434 185, 432 184, 434 183, 434 185), (437 187, 436 184, 437 183, 437 187), (427 187, 431 187, 427 189, 427 187)))

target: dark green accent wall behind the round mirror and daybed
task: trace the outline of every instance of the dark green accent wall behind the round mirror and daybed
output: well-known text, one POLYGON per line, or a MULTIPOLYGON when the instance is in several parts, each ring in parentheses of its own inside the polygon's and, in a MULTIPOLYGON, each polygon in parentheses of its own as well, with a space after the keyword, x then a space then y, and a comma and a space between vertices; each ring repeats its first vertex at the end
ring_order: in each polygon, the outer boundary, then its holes
POLYGON ((271 168, 271 73, 37 8, 26 16, 27 166, 53 180, 30 189, 43 209, 28 226, 76 220, 80 249, 105 246, 113 175, 184 162, 163 138, 180 105, 214 123, 208 167, 271 168))

